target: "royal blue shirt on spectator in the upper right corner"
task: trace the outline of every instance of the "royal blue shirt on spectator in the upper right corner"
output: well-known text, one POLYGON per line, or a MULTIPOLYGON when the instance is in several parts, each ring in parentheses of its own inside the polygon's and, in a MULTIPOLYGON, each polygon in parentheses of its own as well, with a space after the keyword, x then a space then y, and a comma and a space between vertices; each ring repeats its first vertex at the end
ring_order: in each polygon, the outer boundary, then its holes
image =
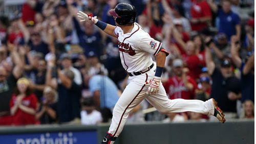
POLYGON ((222 9, 218 11, 219 21, 219 33, 225 33, 228 40, 232 35, 236 35, 236 25, 240 24, 240 18, 236 13, 230 11, 225 13, 222 9))

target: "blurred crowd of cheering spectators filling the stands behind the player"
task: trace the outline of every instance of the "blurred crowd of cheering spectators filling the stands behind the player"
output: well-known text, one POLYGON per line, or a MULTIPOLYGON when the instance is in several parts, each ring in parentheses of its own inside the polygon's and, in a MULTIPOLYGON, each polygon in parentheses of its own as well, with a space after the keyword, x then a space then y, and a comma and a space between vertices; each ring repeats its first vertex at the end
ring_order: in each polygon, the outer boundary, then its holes
MULTIPOLYGON (((169 99, 214 98, 226 119, 254 118, 254 1, 6 0, 0 1, 0 125, 111 121, 129 76, 117 39, 79 22, 77 12, 115 25, 108 11, 121 2, 136 7, 136 21, 171 54, 162 75, 169 99)), ((151 107, 143 101, 127 122, 217 120, 145 111, 151 107)))

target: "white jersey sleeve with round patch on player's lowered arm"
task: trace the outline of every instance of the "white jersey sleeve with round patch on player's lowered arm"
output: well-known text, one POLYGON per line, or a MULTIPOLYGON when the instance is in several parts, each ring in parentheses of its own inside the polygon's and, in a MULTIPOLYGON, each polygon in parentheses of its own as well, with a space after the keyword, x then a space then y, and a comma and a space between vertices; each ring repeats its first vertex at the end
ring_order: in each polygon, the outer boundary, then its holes
POLYGON ((138 48, 156 56, 160 51, 161 45, 161 42, 151 38, 149 35, 146 35, 140 39, 138 48))

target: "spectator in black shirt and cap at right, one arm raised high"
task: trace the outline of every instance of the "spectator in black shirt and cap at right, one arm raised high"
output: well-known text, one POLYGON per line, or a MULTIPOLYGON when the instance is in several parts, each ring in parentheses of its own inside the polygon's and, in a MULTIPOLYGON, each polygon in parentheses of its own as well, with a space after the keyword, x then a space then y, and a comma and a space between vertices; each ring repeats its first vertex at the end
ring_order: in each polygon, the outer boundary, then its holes
MULTIPOLYGON (((209 38, 206 38, 209 41, 209 38)), ((212 43, 209 47, 212 47, 212 43)), ((220 69, 212 61, 210 48, 206 48, 206 66, 212 78, 211 98, 218 101, 227 118, 237 117, 237 100, 241 99, 241 83, 233 76, 231 62, 228 58, 223 59, 220 69)))

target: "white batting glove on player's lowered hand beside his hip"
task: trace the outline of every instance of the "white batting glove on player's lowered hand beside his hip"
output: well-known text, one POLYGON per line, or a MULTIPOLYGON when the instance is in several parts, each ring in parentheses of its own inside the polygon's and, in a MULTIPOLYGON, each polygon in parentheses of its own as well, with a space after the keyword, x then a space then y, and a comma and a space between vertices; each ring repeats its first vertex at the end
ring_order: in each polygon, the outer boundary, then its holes
POLYGON ((159 91, 160 82, 161 78, 156 76, 150 81, 147 81, 146 84, 150 84, 150 86, 148 87, 146 94, 156 94, 159 91))

